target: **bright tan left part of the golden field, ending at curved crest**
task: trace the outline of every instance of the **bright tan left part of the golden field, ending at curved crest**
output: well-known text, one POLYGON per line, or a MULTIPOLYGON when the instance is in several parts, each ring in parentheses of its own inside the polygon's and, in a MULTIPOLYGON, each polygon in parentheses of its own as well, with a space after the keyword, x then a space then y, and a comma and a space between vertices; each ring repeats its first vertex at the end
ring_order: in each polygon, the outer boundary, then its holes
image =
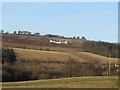
POLYGON ((40 50, 29 50, 29 49, 18 49, 14 48, 14 52, 17 58, 25 60, 68 60, 70 57, 73 59, 80 60, 78 56, 55 51, 40 51, 40 50))

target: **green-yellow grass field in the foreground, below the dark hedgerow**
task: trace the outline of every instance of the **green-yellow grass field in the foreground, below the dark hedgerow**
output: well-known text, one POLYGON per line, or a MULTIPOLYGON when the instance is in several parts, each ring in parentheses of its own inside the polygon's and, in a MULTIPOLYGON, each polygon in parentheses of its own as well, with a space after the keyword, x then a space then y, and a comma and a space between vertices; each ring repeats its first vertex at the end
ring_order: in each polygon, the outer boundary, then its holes
POLYGON ((3 88, 118 88, 118 77, 75 77, 23 82, 5 82, 3 88))

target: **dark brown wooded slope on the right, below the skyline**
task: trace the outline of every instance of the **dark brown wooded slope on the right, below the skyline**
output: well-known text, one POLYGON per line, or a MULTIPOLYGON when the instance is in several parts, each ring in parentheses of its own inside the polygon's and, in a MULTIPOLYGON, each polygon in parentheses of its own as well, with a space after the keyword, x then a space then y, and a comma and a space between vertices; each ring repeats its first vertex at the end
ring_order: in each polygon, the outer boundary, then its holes
POLYGON ((91 53, 103 55, 106 57, 112 57, 112 58, 120 57, 118 53, 119 47, 120 47, 120 44, 107 43, 107 42, 95 42, 95 41, 84 42, 81 45, 81 48, 85 52, 91 52, 91 53))

